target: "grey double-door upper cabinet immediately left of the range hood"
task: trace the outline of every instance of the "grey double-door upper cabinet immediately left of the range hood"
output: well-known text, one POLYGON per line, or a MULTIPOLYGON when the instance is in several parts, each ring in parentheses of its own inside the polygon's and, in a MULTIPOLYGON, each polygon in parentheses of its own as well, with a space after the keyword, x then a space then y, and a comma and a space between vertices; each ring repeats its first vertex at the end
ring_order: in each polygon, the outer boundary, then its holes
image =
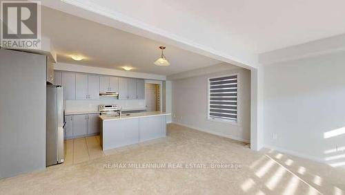
POLYGON ((99 99, 99 77, 95 75, 75 75, 76 100, 99 99))

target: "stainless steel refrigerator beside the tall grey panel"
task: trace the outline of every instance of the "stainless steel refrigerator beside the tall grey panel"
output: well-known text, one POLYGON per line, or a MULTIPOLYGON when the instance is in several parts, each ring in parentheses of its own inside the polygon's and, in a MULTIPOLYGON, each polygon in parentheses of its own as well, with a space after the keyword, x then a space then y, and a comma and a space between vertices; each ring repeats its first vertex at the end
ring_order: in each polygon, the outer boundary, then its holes
POLYGON ((46 166, 63 163, 63 90, 47 85, 46 166))

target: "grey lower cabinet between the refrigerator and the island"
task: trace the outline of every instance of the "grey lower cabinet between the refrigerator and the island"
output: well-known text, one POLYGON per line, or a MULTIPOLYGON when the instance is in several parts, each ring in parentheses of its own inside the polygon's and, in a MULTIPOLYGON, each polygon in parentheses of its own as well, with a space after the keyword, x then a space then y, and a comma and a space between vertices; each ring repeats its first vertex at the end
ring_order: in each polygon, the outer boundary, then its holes
POLYGON ((66 115, 65 140, 99 134, 99 114, 66 115))

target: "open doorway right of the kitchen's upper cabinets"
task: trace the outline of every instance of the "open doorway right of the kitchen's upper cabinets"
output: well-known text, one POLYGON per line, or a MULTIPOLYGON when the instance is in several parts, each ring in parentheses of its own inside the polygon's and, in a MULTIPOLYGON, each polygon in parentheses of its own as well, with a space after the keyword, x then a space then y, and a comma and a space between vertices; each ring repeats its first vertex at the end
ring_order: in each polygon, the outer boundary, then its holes
POLYGON ((146 111, 161 111, 160 84, 145 84, 146 111))

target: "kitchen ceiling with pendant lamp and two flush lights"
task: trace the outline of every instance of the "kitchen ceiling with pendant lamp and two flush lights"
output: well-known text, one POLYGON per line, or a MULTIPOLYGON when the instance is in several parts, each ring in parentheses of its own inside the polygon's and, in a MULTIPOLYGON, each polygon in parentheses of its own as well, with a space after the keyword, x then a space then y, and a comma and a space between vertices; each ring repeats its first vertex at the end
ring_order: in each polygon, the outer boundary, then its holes
POLYGON ((57 61, 102 68, 121 69, 131 66, 132 71, 172 75, 220 62, 168 46, 152 39, 104 26, 65 12, 42 8, 42 35, 51 39, 57 51, 57 61), (155 66, 160 56, 159 46, 166 46, 170 66, 155 66), (70 55, 83 55, 86 59, 75 61, 70 55))

